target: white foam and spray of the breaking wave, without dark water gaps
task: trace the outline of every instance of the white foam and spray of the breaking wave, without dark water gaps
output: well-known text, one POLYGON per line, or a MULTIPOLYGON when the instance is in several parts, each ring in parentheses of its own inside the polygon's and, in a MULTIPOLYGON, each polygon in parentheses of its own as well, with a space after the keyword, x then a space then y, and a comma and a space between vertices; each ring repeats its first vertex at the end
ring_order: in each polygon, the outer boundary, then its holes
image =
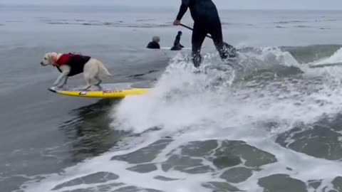
MULTIPOLYGON (((248 58, 247 55, 244 57, 244 60, 248 58)), ((291 55, 278 49, 264 49, 259 54, 250 55, 250 58, 264 61, 269 68, 272 68, 272 63, 299 65, 291 55)), ((202 69, 215 59, 217 60, 210 56, 205 58, 202 69)), ((130 186, 167 192, 210 191, 202 187, 201 183, 222 181, 213 178, 211 174, 190 175, 175 170, 164 172, 158 169, 148 174, 138 174, 127 170, 132 164, 110 160, 112 156, 128 154, 148 146, 162 136, 171 136, 175 140, 152 161, 155 164, 165 161, 167 154, 177 154, 177 150, 174 150, 182 144, 207 139, 241 140, 274 154, 276 163, 263 166, 261 171, 255 171, 247 181, 236 185, 246 191, 262 191, 257 184, 258 178, 271 174, 289 174, 292 178, 302 181, 323 179, 325 186, 338 174, 341 175, 341 162, 317 159, 286 149, 274 142, 277 135, 288 131, 294 124, 311 124, 321 117, 341 112, 342 101, 338 98, 342 92, 336 88, 335 82, 323 80, 311 85, 310 78, 314 72, 309 71, 311 75, 304 74, 296 82, 291 78, 284 78, 259 84, 255 81, 234 83, 233 78, 236 76, 229 68, 226 72, 212 69, 207 70, 206 74, 193 73, 192 63, 179 60, 182 58, 175 58, 173 63, 170 63, 150 94, 127 97, 113 109, 113 129, 142 133, 141 137, 144 139, 139 145, 131 144, 128 149, 108 152, 90 159, 66 169, 61 176, 54 174, 38 185, 29 185, 25 191, 51 191, 60 183, 99 171, 113 172, 120 176, 118 180, 108 183, 122 182, 130 186), (265 128, 263 124, 267 122, 276 122, 277 126, 272 129, 265 128), (151 127, 159 127, 160 130, 145 132, 151 127), (178 180, 165 182, 155 179, 155 176, 178 180)), ((204 161, 204 164, 210 163, 204 161)), ((58 191, 97 185, 83 184, 58 191)), ((111 190, 120 187, 122 186, 115 186, 111 190)))

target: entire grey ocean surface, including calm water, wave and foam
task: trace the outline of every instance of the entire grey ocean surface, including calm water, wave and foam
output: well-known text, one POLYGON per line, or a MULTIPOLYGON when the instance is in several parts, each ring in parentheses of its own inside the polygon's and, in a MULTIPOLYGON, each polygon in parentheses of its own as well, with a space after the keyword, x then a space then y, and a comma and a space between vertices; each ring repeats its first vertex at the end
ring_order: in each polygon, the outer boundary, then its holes
MULTIPOLYGON (((0 5, 0 188, 7 191, 342 191, 341 11, 219 10, 224 65, 204 73, 172 46, 177 10, 0 5), (103 60, 148 95, 88 100, 48 92, 46 52, 103 60)), ((183 23, 192 26, 187 14, 183 23)), ((68 85, 84 83, 82 75, 68 85)))

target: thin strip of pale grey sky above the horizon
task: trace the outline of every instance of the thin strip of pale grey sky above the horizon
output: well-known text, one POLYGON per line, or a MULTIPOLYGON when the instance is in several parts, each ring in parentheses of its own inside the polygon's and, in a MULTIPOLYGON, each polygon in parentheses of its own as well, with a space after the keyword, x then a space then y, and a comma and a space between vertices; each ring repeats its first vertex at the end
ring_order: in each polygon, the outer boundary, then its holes
MULTIPOLYGON (((1 0, 1 4, 133 5, 177 8, 181 0, 1 0)), ((213 0, 218 9, 342 9, 342 0, 213 0)))

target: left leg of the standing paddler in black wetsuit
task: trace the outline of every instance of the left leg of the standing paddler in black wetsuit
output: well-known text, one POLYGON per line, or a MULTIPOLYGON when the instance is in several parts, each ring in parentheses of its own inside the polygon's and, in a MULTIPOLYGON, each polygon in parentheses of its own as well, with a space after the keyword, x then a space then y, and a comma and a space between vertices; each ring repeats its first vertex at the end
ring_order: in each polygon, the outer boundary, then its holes
POLYGON ((201 48, 207 31, 200 26, 200 24, 194 24, 194 31, 192 32, 192 62, 195 68, 198 68, 202 63, 201 48))

